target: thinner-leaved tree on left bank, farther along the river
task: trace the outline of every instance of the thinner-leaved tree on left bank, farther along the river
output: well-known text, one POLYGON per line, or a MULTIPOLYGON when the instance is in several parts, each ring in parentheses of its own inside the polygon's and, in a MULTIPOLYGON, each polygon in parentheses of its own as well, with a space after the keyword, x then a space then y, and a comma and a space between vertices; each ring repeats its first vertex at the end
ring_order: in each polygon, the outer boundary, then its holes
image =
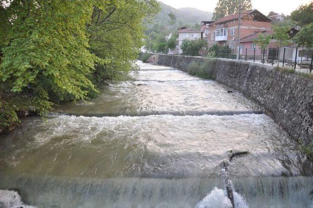
POLYGON ((96 64, 92 76, 95 85, 101 85, 106 79, 127 78, 129 72, 136 69, 134 60, 145 38, 142 22, 159 11, 155 0, 116 2, 94 7, 87 26, 90 52, 106 60, 96 64))

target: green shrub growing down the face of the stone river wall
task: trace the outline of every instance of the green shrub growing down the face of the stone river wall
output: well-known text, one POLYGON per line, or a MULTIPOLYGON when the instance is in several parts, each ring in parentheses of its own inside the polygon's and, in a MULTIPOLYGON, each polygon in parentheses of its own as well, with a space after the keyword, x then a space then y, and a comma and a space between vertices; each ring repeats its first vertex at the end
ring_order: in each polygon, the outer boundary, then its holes
POLYGON ((215 67, 216 59, 205 59, 203 63, 191 62, 187 67, 187 72, 203 79, 214 79, 213 71, 215 67))

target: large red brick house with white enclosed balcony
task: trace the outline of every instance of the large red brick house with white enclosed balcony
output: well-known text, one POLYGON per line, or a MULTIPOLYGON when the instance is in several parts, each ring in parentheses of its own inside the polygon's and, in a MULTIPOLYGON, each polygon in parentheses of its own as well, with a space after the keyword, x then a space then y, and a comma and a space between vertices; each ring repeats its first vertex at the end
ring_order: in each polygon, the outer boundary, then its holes
MULTIPOLYGON (((213 46, 228 46, 237 51, 238 47, 238 16, 239 14, 225 16, 213 23, 207 24, 205 29, 208 29, 208 45, 213 46)), ((244 38, 256 32, 269 31, 271 22, 267 16, 258 10, 250 10, 242 12, 240 16, 240 38, 244 38)), ((241 52, 245 45, 241 45, 241 52)))

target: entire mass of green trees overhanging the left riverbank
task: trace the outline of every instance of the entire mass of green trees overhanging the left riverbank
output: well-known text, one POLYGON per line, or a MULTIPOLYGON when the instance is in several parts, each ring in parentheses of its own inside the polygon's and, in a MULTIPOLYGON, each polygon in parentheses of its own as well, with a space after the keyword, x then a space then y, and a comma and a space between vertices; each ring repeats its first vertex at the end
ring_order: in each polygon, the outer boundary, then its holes
POLYGON ((1 0, 0 129, 127 77, 158 11, 156 0, 1 0))

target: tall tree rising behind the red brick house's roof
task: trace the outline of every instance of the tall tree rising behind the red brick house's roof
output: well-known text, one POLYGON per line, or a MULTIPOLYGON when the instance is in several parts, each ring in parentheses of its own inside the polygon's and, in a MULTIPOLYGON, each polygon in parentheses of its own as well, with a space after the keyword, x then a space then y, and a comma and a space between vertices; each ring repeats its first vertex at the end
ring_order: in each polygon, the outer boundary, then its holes
MULTIPOLYGON (((241 11, 251 10, 251 0, 241 0, 241 11)), ((239 12, 239 0, 219 0, 214 12, 213 20, 218 20, 224 16, 239 12)))

